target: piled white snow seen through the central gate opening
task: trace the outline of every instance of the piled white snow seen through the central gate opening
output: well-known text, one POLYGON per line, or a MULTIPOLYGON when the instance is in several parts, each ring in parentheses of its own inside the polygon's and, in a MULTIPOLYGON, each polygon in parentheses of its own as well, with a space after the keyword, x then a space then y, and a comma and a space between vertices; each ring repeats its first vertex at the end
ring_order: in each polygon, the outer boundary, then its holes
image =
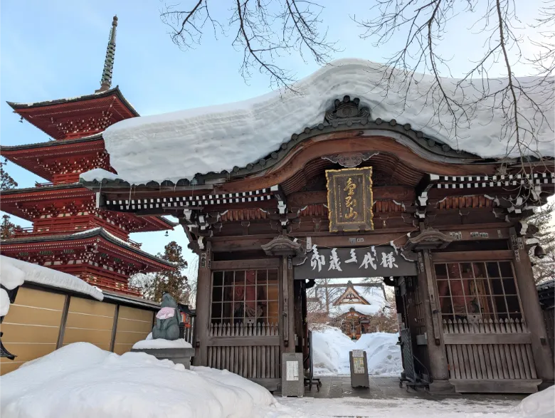
POLYGON ((398 376, 403 371, 401 349, 396 345, 397 334, 363 334, 352 341, 339 328, 312 332, 315 375, 349 375, 349 351, 364 350, 368 359, 368 374, 398 376))

